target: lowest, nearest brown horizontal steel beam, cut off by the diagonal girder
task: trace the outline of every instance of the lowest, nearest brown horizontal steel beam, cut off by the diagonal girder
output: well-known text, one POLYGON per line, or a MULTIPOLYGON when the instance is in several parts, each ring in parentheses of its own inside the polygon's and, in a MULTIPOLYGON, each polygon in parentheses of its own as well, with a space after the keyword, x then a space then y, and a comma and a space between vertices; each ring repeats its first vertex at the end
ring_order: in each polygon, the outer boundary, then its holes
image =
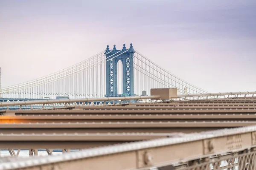
MULTIPOLYGON (((166 138, 183 134, 172 133, 34 133, 34 134, 0 134, 0 147, 29 149, 83 149, 88 147, 134 142, 140 140, 166 138)), ((49 150, 48 150, 49 151, 49 150)), ((13 149, 9 152, 15 156, 13 149)), ((51 153, 49 151, 49 153, 51 153)))

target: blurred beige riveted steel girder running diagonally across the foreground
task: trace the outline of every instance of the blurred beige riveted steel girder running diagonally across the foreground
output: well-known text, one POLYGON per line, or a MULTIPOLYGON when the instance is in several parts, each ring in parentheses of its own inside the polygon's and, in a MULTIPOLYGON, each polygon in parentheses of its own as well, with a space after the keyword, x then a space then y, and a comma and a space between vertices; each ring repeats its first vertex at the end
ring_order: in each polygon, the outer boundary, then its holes
POLYGON ((255 170, 256 126, 223 129, 143 142, 97 147, 59 156, 2 162, 0 170, 87 167, 134 170, 166 167, 183 170, 255 170), (185 166, 185 167, 184 167, 185 166), (177 168, 176 167, 176 168, 177 168))

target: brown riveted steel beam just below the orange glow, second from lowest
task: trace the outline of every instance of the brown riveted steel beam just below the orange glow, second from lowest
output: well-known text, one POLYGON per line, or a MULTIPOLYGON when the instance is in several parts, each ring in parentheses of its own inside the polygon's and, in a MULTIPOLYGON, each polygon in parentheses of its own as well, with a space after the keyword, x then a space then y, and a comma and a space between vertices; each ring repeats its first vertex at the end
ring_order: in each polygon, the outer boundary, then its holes
MULTIPOLYGON (((205 128, 205 127, 241 127, 256 125, 253 121, 203 121, 203 122, 83 122, 83 123, 20 123, 0 124, 0 129, 12 128, 46 128, 46 129, 68 129, 68 128, 205 128)), ((160 130, 160 129, 159 129, 160 130)))

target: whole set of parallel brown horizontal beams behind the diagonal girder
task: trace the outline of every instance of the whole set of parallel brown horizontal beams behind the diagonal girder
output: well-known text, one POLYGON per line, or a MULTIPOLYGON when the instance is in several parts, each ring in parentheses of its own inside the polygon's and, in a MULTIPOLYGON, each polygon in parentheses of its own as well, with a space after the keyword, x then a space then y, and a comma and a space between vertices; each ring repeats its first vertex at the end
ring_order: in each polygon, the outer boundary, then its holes
POLYGON ((0 144, 10 150, 28 146, 55 149, 59 143, 66 144, 61 148, 87 148, 170 133, 256 125, 255 102, 252 98, 211 99, 1 111, 0 144))

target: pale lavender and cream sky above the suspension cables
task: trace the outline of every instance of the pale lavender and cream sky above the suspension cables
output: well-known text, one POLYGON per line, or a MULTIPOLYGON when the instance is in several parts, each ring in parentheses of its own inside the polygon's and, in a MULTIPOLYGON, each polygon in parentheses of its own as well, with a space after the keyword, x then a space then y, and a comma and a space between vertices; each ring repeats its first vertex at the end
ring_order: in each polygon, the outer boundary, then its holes
POLYGON ((2 87, 123 43, 207 91, 256 91, 256 0, 0 0, 2 87))

